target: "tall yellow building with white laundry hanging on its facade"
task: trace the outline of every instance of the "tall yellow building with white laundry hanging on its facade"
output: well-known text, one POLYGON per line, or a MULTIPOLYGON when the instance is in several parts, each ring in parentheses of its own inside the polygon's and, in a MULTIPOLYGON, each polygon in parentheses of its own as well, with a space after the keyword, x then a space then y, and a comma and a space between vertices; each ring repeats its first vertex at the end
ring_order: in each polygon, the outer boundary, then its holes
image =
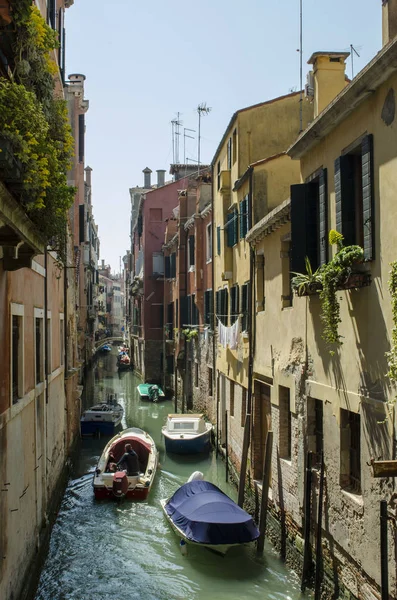
MULTIPOLYGON (((298 136, 300 121, 306 126, 312 115, 312 103, 300 102, 299 93, 238 110, 212 161, 214 388, 219 443, 225 444, 228 429, 229 456, 237 471, 253 395, 253 257, 246 236, 271 209, 277 192, 287 193, 289 184, 299 181, 299 169, 285 151, 298 136)), ((261 471, 261 454, 252 456, 251 467, 261 471)))

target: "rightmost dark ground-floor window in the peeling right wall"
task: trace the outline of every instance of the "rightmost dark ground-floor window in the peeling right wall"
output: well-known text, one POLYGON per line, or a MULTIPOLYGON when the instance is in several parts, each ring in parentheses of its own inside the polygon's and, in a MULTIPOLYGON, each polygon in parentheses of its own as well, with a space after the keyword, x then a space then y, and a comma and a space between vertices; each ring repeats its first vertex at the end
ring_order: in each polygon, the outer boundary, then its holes
POLYGON ((340 485, 353 494, 361 494, 360 415, 341 408, 340 485))

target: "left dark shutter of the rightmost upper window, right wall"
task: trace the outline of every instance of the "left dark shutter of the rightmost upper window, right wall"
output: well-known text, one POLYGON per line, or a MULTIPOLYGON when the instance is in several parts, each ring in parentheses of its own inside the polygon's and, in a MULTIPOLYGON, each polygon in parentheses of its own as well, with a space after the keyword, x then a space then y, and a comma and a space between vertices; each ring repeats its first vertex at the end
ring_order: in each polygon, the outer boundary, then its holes
POLYGON ((354 157, 345 154, 335 160, 336 230, 345 246, 355 243, 354 157))

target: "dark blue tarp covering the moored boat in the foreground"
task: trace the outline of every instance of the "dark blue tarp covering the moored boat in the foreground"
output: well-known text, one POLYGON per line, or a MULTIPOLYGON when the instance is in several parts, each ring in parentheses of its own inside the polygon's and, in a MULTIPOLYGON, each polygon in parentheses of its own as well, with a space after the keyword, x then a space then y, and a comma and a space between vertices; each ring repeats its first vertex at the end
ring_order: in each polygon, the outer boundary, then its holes
POLYGON ((200 544, 244 544, 259 536, 250 515, 209 481, 185 483, 165 510, 187 539, 200 544))

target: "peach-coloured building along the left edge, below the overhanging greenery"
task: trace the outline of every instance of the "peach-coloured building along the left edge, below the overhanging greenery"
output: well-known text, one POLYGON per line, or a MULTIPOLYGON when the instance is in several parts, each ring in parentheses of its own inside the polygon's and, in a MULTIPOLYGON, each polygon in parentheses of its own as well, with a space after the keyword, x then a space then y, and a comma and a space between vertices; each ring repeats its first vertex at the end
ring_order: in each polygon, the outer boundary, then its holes
MULTIPOLYGON (((45 28, 47 23, 59 32, 60 45, 51 51, 50 59, 57 67, 54 89, 56 97, 61 98, 65 50, 63 18, 65 8, 72 2, 32 4, 5 0, 1 4, 3 95, 0 113, 17 108, 16 103, 7 101, 7 90, 12 86, 18 84, 19 90, 25 87, 36 93, 32 82, 16 74, 15 66, 21 58, 14 54, 19 28, 13 21, 11 8, 24 11, 19 15, 21 28, 34 19, 39 27, 45 28)), ((56 106, 63 109, 61 104, 56 106)), ((26 112, 28 108, 26 106, 26 112)), ((37 118, 42 118, 44 111, 37 107, 36 110, 37 118)), ((9 119, 7 124, 11 122, 9 119)), ((33 122, 31 127, 33 130, 33 122)), ((0 131, 0 477, 3 490, 0 493, 0 597, 11 600, 31 589, 37 561, 49 535, 49 525, 65 481, 67 459, 79 433, 81 390, 71 229, 64 232, 66 247, 62 254, 61 244, 57 251, 47 246, 47 241, 52 247, 55 245, 55 239, 48 240, 43 233, 51 219, 50 204, 41 207, 42 213, 27 214, 28 196, 25 194, 24 201, 21 200, 21 190, 26 192, 25 171, 18 164, 12 144, 3 135, 3 123, 0 131)), ((23 126, 17 134, 26 135, 23 126)), ((64 185, 64 176, 65 173, 57 172, 60 186, 64 185)), ((66 185, 63 191, 65 188, 66 185)), ((56 217, 56 213, 52 213, 54 220, 56 217)))

